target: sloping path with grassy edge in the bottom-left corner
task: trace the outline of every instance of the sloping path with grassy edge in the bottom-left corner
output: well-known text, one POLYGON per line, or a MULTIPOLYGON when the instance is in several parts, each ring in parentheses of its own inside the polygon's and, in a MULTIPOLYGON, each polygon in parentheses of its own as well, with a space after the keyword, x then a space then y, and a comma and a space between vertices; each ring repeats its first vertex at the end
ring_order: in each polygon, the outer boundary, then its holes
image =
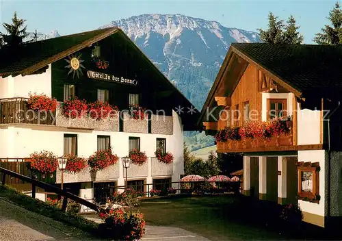
POLYGON ((1 241, 94 240, 88 233, 0 198, 1 241))

